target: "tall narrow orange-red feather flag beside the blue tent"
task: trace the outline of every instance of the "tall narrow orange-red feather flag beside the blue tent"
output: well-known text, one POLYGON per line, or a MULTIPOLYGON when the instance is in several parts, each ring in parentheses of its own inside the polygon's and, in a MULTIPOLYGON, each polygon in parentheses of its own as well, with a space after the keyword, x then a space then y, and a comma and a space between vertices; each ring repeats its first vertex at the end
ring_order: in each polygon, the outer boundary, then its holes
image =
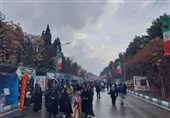
POLYGON ((20 106, 19 111, 23 110, 24 107, 24 100, 25 100, 25 93, 27 87, 27 80, 28 80, 28 72, 26 71, 22 80, 21 80, 21 91, 20 91, 20 106))

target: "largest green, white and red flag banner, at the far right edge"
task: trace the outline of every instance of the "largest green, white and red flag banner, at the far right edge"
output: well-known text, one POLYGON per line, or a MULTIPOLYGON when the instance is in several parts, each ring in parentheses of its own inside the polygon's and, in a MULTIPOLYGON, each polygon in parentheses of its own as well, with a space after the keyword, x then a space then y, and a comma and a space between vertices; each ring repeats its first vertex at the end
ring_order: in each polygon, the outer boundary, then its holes
POLYGON ((170 56, 170 18, 162 18, 162 31, 164 39, 164 55, 170 56))

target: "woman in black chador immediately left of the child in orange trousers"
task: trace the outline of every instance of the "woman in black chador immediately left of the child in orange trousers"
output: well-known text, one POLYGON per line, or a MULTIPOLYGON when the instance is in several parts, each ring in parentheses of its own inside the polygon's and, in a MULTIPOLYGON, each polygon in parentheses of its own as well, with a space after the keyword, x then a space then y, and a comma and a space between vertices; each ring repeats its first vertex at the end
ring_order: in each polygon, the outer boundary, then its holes
POLYGON ((60 111, 64 113, 63 116, 66 115, 67 117, 70 116, 71 113, 73 113, 72 107, 71 107, 71 101, 70 101, 66 88, 63 88, 62 93, 61 93, 60 111))

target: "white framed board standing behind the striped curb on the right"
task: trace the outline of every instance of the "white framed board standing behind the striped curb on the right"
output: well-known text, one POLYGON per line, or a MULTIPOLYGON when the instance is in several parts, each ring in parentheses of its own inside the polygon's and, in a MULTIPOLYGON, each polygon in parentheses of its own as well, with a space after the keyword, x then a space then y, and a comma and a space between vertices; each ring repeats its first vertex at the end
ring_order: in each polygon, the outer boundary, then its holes
POLYGON ((135 90, 141 90, 141 91, 150 90, 149 82, 146 77, 133 76, 133 84, 135 90))

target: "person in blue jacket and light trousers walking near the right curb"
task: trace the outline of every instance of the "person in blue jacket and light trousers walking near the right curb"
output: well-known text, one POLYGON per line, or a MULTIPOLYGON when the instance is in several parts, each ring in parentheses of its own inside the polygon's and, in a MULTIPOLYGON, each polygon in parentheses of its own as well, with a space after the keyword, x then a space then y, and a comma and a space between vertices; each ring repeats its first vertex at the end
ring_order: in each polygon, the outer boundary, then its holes
POLYGON ((125 98, 124 97, 125 88, 122 85, 122 83, 120 83, 120 85, 118 86, 117 90, 118 90, 118 95, 119 95, 119 98, 120 98, 120 103, 121 103, 121 105, 123 105, 124 104, 124 98, 125 98))

